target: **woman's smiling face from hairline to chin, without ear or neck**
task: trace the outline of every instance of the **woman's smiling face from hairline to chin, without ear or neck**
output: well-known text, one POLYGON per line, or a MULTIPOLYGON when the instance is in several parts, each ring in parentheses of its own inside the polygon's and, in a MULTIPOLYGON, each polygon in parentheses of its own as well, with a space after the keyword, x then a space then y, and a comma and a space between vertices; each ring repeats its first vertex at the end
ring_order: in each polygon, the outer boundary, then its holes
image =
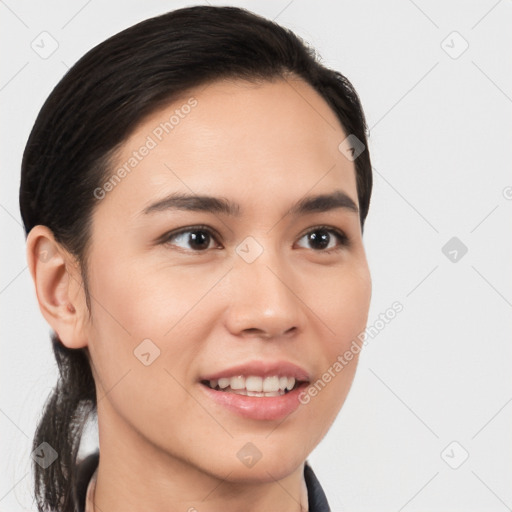
POLYGON ((138 126, 96 189, 100 443, 263 481, 338 414, 371 295, 356 175, 335 114, 288 82, 192 91, 138 126))

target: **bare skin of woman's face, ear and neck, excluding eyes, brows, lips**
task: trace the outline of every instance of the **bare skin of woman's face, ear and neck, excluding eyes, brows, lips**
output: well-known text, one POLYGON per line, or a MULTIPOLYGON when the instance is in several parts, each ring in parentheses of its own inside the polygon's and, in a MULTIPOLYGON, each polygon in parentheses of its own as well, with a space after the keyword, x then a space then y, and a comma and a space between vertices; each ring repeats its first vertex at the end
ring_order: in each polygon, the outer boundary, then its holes
POLYGON ((96 510, 307 510, 304 461, 345 401, 357 354, 284 421, 240 417, 206 398, 198 379, 284 359, 314 382, 365 329, 371 278, 359 214, 287 215, 305 195, 334 190, 358 205, 354 163, 338 150, 347 134, 301 80, 215 82, 145 119, 112 172, 192 96, 197 106, 97 201, 90 316, 76 261, 48 228, 28 237, 43 315, 66 346, 90 354, 101 452, 96 510), (241 214, 141 213, 176 191, 225 197, 241 214), (188 234, 157 241, 198 224, 212 229, 206 250, 188 234), (349 245, 333 233, 331 253, 308 241, 324 224, 349 245), (236 252, 248 236, 263 248, 251 264, 236 252), (160 356, 145 366, 133 352, 148 338, 160 356), (236 455, 247 442, 262 453, 251 468, 236 455))

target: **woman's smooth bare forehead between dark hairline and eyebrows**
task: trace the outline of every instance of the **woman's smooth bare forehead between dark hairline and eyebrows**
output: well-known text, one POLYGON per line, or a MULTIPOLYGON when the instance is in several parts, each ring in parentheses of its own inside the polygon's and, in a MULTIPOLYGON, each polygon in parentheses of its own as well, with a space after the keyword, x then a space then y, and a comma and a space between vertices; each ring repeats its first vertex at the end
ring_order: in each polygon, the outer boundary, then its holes
POLYGON ((214 82, 139 124, 115 156, 106 177, 115 184, 100 206, 122 202, 130 216, 176 190, 271 203, 313 188, 344 189, 357 204, 353 162, 338 149, 346 136, 302 80, 214 82))

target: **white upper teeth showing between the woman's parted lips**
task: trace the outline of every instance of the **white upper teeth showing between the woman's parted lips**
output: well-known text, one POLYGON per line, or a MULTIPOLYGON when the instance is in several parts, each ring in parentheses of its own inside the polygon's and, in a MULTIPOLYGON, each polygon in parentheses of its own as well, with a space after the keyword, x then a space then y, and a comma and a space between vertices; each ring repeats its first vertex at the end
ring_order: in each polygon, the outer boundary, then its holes
POLYGON ((277 375, 265 378, 252 375, 247 377, 238 375, 231 378, 202 380, 201 384, 224 393, 254 397, 276 397, 290 393, 290 391, 306 384, 306 381, 277 375))

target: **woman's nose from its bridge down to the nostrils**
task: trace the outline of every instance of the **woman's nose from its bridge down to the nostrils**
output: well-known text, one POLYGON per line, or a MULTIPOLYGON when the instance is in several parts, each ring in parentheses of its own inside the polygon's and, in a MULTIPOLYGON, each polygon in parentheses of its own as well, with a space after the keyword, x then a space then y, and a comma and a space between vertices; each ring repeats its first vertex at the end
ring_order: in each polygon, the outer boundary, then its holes
POLYGON ((293 272, 270 244, 247 237, 236 249, 231 271, 229 328, 271 337, 301 327, 300 301, 293 293, 293 272))

